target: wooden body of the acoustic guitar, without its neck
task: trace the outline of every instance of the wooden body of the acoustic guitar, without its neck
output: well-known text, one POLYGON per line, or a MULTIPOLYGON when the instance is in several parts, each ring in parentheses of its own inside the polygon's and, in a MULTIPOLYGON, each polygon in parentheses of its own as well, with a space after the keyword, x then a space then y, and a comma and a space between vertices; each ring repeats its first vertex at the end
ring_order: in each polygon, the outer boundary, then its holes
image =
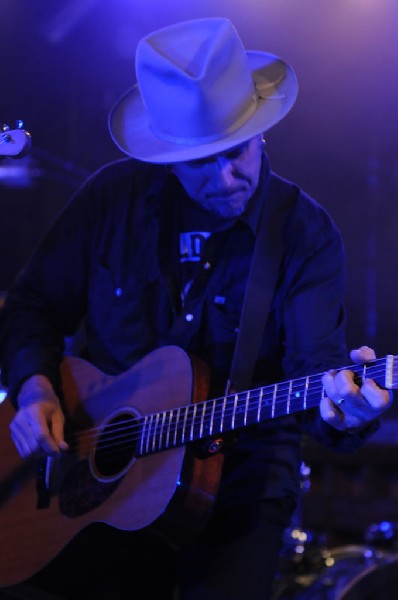
POLYGON ((127 441, 122 458, 108 459, 108 448, 114 438, 117 442, 115 424, 127 419, 135 431, 139 417, 203 399, 207 384, 200 383, 196 391, 193 366, 183 350, 155 350, 116 377, 68 357, 61 373, 70 453, 22 460, 9 434, 14 410, 8 401, 0 405, 0 587, 39 571, 90 523, 141 529, 158 520, 169 504, 174 507, 177 487, 182 506, 192 514, 208 512, 217 491, 219 459, 214 471, 208 469, 213 458, 190 457, 192 490, 180 481, 184 447, 136 457, 138 447, 127 441))

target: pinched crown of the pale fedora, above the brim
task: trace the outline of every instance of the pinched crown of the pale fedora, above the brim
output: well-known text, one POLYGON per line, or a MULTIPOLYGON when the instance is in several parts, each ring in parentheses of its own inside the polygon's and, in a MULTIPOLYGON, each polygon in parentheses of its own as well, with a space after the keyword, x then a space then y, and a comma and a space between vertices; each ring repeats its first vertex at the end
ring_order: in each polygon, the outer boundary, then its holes
POLYGON ((220 139, 256 109, 246 52, 227 19, 188 21, 146 36, 136 75, 149 125, 164 140, 220 139))

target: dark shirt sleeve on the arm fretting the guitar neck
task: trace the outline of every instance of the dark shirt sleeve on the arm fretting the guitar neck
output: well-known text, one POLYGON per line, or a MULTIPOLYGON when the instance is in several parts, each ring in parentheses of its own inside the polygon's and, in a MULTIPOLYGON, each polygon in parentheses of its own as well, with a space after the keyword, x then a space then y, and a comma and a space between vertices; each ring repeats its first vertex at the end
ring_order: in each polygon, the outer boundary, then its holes
MULTIPOLYGON (((291 248, 289 288, 284 309, 284 372, 288 378, 322 373, 349 364, 345 338, 345 253, 341 235, 327 213, 308 198, 299 199, 296 234, 306 229, 308 244, 291 248)), ((292 227, 292 223, 290 224, 292 227)), ((300 235, 291 233, 291 239, 300 235)), ((294 242, 293 242, 294 244, 294 242)), ((300 413, 304 431, 337 451, 350 452, 378 429, 378 421, 361 431, 340 432, 319 409, 300 413)))

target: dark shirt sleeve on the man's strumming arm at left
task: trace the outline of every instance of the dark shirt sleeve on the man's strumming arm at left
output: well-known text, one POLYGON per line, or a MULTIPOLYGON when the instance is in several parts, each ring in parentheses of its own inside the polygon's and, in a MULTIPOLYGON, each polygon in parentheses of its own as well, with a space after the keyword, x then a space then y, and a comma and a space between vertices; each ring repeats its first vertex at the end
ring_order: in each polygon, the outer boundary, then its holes
POLYGON ((21 384, 34 374, 46 375, 57 389, 64 337, 77 328, 85 308, 90 206, 88 185, 35 249, 0 311, 1 375, 14 404, 21 384))

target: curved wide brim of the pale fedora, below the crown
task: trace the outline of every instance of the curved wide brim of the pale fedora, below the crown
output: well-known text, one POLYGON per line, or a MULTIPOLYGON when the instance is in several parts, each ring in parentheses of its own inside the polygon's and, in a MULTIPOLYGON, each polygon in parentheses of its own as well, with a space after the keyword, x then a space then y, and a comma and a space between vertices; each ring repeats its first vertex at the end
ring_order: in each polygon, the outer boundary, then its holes
POLYGON ((163 140, 150 127, 136 84, 110 110, 108 125, 115 144, 122 152, 144 162, 174 163, 228 150, 273 127, 287 115, 296 100, 296 76, 287 63, 273 54, 253 51, 246 54, 258 104, 243 125, 206 143, 182 144, 163 140))

